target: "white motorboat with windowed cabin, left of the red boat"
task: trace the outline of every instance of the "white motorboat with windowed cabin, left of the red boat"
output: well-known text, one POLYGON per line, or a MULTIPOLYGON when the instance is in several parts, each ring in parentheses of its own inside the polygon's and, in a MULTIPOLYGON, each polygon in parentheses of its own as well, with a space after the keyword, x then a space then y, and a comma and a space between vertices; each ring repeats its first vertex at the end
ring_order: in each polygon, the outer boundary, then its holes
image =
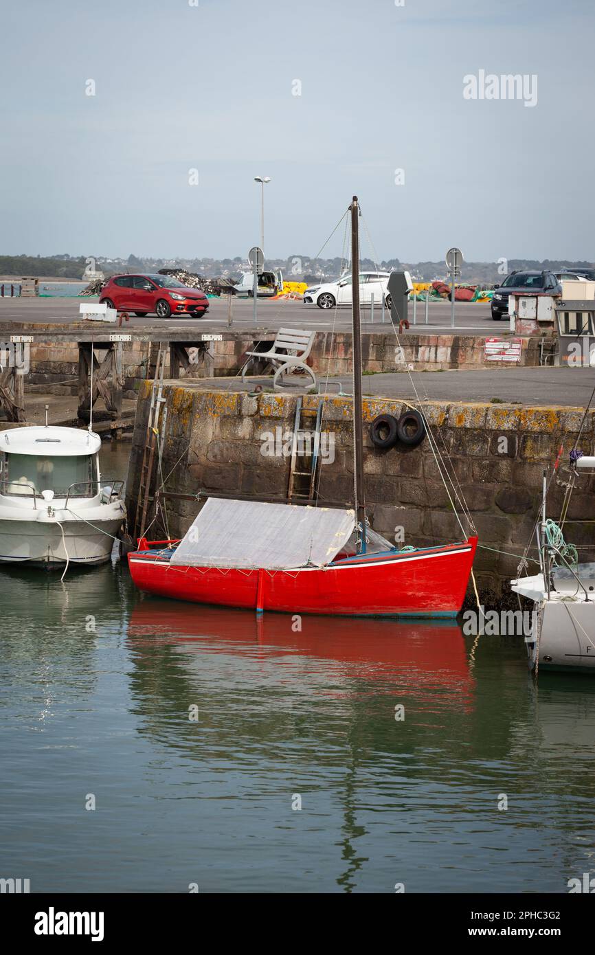
POLYGON ((99 474, 101 438, 56 426, 0 432, 0 562, 108 561, 125 517, 123 481, 99 474))

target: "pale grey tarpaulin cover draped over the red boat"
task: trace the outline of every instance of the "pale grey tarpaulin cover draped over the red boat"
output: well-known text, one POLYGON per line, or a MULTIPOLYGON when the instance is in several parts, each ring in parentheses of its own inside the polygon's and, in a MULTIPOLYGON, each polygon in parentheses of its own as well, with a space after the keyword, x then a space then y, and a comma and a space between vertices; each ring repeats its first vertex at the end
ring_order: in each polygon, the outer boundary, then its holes
POLYGON ((209 498, 170 563, 290 570, 322 566, 349 540, 351 510, 209 498))

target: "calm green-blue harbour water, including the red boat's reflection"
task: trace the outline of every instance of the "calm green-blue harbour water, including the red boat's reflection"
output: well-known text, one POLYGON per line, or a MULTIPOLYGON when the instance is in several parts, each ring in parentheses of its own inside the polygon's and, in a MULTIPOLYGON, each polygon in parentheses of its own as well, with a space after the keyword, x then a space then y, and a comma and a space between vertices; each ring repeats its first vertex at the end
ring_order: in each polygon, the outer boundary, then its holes
POLYGON ((595 687, 534 685, 519 639, 300 630, 116 561, 0 585, 0 876, 32 892, 563 893, 595 866, 595 687))

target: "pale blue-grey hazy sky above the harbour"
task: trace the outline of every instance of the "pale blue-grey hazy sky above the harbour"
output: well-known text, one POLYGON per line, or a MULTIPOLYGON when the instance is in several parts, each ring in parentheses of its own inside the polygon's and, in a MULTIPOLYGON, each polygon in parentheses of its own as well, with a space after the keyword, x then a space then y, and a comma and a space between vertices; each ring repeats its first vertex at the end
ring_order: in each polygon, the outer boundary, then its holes
POLYGON ((357 195, 362 256, 593 261, 594 26, 592 0, 6 0, 0 253, 245 257, 269 176, 270 257, 357 195))

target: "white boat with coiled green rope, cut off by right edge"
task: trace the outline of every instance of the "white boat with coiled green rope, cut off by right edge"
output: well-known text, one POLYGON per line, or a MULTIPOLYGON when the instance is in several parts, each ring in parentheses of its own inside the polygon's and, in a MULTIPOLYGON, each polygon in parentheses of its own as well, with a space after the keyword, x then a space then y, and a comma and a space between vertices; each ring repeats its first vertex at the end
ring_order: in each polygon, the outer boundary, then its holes
MULTIPOLYGON (((581 471, 594 468, 595 457, 581 456, 573 461, 567 493, 572 493, 581 471)), ((526 638, 529 666, 533 672, 556 669, 595 673, 595 563, 579 563, 576 549, 568 547, 558 525, 546 519, 546 487, 544 476, 541 572, 511 581, 514 592, 532 601, 535 610, 526 638)))

